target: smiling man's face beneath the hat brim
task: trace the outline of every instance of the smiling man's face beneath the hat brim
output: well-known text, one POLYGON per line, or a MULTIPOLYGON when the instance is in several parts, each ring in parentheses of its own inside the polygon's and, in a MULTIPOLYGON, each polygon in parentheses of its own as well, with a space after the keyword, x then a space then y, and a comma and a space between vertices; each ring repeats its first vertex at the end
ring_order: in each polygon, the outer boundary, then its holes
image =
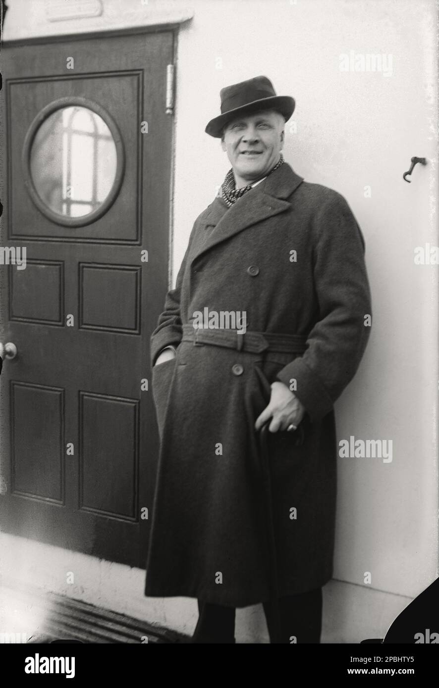
POLYGON ((235 178, 252 182, 267 174, 283 148, 285 120, 274 111, 260 111, 229 122, 221 145, 227 152, 235 178))

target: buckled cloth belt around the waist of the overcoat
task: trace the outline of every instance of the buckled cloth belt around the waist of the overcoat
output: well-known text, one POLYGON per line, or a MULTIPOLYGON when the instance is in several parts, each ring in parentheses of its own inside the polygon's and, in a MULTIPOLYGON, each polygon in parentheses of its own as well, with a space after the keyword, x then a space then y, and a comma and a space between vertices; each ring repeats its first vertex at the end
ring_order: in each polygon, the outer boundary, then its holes
POLYGON ((282 354, 302 354, 307 349, 307 336, 304 334, 278 334, 276 332, 252 332, 252 330, 204 330, 202 327, 183 325, 181 341, 192 342, 195 346, 212 345, 227 349, 261 354, 264 351, 282 354))

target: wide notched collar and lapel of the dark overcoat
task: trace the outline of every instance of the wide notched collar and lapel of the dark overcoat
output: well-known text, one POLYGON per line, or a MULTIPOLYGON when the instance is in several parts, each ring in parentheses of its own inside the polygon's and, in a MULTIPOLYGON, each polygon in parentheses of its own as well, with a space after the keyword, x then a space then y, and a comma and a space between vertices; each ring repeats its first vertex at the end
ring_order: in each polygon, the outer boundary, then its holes
MULTIPOLYGON (((238 234, 256 222, 278 215, 288 210, 291 204, 285 200, 302 184, 303 177, 297 175, 292 167, 284 162, 272 174, 245 193, 230 208, 221 197, 216 197, 210 204, 210 212, 202 219, 205 230, 210 230, 203 237, 192 254, 193 262, 201 253, 210 250, 216 244, 238 234)), ((203 227, 201 227, 203 233, 203 227)))

